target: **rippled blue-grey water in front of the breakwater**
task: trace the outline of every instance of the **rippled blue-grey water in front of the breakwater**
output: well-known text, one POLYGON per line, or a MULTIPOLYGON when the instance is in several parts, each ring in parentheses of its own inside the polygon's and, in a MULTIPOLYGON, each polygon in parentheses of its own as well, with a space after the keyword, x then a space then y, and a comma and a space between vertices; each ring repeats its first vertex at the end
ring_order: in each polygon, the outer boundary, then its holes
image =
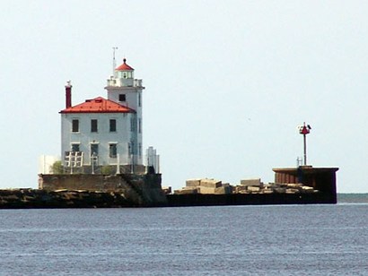
POLYGON ((0 275, 368 275, 368 204, 0 210, 0 275))

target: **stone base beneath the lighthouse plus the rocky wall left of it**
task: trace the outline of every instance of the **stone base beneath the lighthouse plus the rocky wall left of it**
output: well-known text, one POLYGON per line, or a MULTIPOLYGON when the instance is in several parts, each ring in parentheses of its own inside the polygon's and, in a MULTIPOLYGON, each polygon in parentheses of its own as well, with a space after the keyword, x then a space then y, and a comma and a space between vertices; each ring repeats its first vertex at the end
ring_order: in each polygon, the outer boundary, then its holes
POLYGON ((160 174, 39 175, 39 189, 0 190, 0 208, 166 206, 160 174))

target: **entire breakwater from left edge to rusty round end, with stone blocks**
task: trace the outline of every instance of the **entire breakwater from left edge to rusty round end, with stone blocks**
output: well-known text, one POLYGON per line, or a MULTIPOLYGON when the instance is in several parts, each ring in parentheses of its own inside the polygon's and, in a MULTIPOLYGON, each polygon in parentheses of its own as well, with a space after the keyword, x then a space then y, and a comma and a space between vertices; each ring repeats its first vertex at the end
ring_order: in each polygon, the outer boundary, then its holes
POLYGON ((337 169, 274 168, 274 185, 252 179, 243 181, 235 191, 214 179, 190 180, 179 194, 164 194, 161 174, 154 173, 39 175, 39 189, 0 190, 0 208, 333 204, 337 203, 337 169))

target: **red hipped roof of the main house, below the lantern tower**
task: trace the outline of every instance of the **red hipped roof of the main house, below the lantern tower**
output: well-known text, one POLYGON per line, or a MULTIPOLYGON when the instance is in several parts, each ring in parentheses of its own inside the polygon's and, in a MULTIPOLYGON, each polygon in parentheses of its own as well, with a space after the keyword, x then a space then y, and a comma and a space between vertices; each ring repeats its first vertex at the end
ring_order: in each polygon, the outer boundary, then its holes
POLYGON ((110 99, 98 97, 86 99, 85 102, 74 107, 61 110, 60 113, 135 113, 132 108, 119 105, 110 99))

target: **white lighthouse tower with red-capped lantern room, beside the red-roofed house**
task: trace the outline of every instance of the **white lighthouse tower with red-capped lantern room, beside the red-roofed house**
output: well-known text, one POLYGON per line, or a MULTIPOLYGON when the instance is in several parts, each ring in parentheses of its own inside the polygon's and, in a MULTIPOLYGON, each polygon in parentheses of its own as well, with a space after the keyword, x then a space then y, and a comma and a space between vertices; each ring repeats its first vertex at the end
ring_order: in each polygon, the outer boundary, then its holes
POLYGON ((142 91, 145 87, 142 80, 134 78, 134 69, 127 65, 127 59, 124 58, 123 64, 115 69, 105 89, 108 99, 136 111, 130 118, 129 153, 135 157, 135 164, 142 164, 142 91))

